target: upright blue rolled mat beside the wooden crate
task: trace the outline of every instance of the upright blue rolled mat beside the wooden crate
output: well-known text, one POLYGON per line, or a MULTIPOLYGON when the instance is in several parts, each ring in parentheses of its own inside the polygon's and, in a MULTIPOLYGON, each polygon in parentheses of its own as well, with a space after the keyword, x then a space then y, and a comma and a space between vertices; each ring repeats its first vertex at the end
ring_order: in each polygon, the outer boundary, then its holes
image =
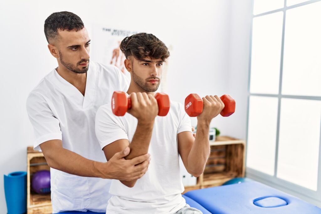
POLYGON ((25 213, 27 211, 27 172, 4 175, 4 194, 8 214, 25 213))

